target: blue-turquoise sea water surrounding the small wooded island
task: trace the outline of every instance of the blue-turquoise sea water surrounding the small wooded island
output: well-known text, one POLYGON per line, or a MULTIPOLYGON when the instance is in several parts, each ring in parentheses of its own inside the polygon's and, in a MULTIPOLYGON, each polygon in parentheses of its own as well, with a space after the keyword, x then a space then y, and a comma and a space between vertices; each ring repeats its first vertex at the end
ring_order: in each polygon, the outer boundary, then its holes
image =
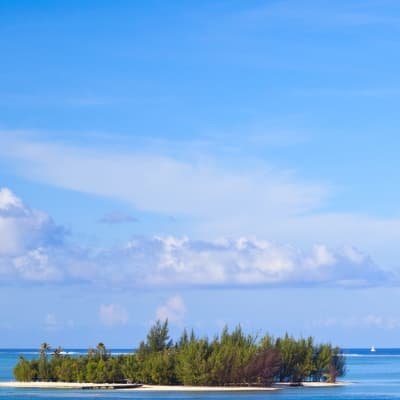
MULTIPOLYGON (((79 349, 67 350, 73 353, 85 353, 79 349)), ((113 354, 128 352, 114 350, 113 354)), ((347 349, 347 374, 344 380, 353 382, 350 386, 335 388, 292 388, 271 393, 142 393, 121 391, 80 391, 80 390, 40 390, 0 388, 0 399, 135 399, 135 400, 400 400, 400 349, 347 349)), ((37 357, 32 349, 0 349, 0 380, 11 380, 12 367, 18 356, 37 357)))

